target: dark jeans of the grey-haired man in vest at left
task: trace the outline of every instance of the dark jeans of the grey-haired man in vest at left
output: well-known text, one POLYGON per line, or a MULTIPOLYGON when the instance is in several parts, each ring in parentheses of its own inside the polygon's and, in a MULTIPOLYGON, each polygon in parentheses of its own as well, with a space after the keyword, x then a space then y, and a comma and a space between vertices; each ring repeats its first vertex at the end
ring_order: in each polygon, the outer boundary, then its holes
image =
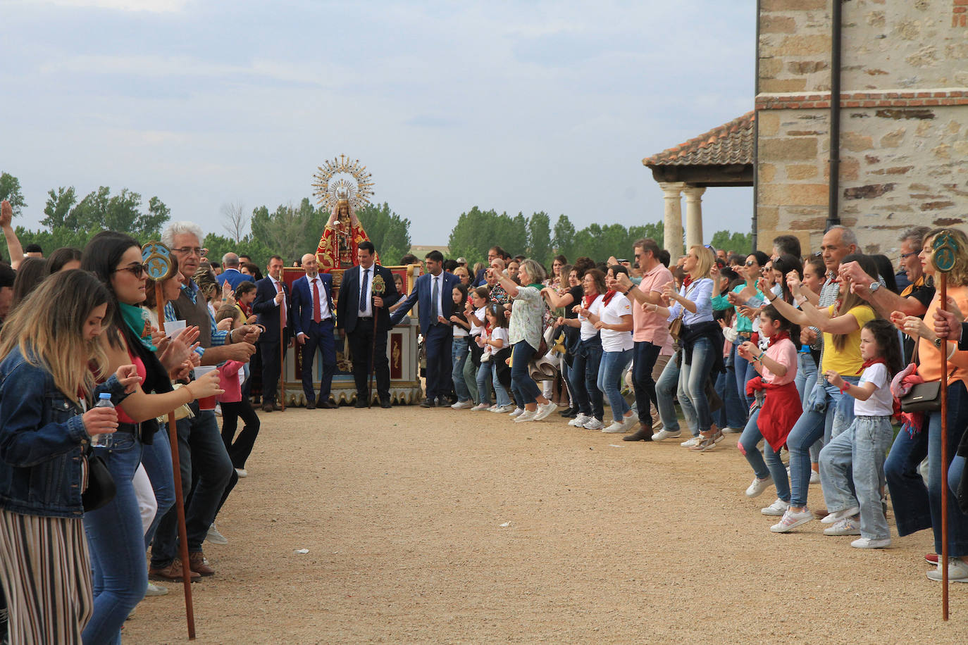
MULTIPOLYGON (((192 403, 194 419, 178 422, 178 459, 182 491, 185 495, 185 525, 189 552, 200 552, 208 527, 215 521, 223 493, 234 468, 219 432, 215 413, 198 411, 192 403), (193 482, 193 476, 196 481, 193 482), (189 494, 188 491, 191 491, 189 494)), ((178 520, 175 509, 162 518, 151 547, 151 566, 167 567, 178 555, 178 520)))

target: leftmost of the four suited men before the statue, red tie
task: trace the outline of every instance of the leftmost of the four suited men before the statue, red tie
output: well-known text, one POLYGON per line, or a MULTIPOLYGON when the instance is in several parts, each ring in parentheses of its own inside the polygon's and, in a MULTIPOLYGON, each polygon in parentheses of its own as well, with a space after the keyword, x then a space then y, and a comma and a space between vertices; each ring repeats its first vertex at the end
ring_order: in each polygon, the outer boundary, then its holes
POLYGON ((292 331, 292 316, 289 311, 289 289, 282 281, 283 258, 273 255, 266 267, 268 276, 256 282, 256 300, 252 310, 257 314, 257 322, 265 328, 258 337, 258 349, 262 358, 262 411, 279 410, 276 402, 276 388, 282 373, 280 355, 280 325, 282 325, 283 347, 289 345, 292 331))

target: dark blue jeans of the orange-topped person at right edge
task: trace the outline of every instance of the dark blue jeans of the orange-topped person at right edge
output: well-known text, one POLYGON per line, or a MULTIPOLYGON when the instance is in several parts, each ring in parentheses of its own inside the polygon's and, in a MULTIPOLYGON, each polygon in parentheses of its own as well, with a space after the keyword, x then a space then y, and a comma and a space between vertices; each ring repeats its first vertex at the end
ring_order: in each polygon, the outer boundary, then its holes
MULTIPOLYGON (((941 486, 949 482, 942 482, 941 468, 941 413, 930 412, 924 420, 925 427, 918 433, 923 435, 927 431, 927 490, 925 495, 924 485, 915 482, 908 476, 907 469, 898 467, 897 459, 893 459, 894 451, 898 444, 903 446, 903 437, 907 432, 899 432, 894 441, 891 456, 888 458, 892 462, 888 471, 888 485, 891 488, 891 499, 894 506, 894 514, 897 517, 897 531, 901 533, 901 523, 904 523, 906 533, 911 533, 930 526, 934 530, 934 548, 936 553, 941 553, 941 486), (902 475, 901 477, 898 477, 902 475), (924 508, 930 509, 930 521, 924 522, 924 508), (921 511, 921 513, 919 513, 921 511)), ((961 440, 965 425, 968 425, 968 392, 962 381, 954 381, 948 386, 948 459, 949 463, 954 457, 954 451, 961 440)), ((917 435, 916 435, 917 436, 917 435)), ((913 443, 913 446, 917 446, 913 443)), ((903 452, 903 450, 902 450, 903 452)), ((917 456, 915 450, 909 450, 908 456, 904 461, 910 464, 917 456)), ((951 475, 951 473, 949 473, 951 475)), ((905 535, 906 533, 901 533, 905 535)), ((948 555, 961 557, 968 555, 968 515, 961 513, 957 501, 952 496, 948 500, 948 555)))

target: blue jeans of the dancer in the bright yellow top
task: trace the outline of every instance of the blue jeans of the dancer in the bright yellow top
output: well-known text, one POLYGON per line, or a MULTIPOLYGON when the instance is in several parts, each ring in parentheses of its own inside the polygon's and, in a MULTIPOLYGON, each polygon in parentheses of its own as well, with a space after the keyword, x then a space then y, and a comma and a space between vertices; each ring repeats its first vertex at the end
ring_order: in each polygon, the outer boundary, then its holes
MULTIPOLYGON (((843 379, 857 385, 858 376, 843 379)), ((825 438, 824 444, 847 429, 854 421, 854 397, 846 396, 826 380, 817 383, 810 394, 809 409, 790 430, 787 450, 790 451, 790 506, 806 506, 810 485, 810 446, 825 438)))

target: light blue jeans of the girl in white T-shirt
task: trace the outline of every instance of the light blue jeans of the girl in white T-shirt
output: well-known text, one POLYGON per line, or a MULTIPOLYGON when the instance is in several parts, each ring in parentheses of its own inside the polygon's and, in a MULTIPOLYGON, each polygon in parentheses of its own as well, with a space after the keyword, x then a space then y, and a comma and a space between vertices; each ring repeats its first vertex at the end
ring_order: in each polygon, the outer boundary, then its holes
POLYGON ((861 537, 887 540, 881 506, 884 460, 891 447, 891 417, 855 417, 854 423, 820 451, 820 483, 831 513, 861 508, 861 537))

